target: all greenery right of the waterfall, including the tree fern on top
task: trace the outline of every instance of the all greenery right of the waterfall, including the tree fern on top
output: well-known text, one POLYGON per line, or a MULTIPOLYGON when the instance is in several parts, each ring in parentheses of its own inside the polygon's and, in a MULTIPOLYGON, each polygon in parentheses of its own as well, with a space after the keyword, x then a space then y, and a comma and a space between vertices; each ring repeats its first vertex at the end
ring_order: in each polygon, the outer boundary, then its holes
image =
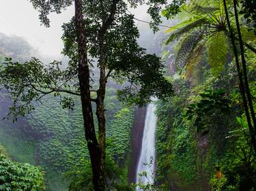
MULTIPOLYGON (((183 7, 179 29, 167 31, 167 43, 179 39, 175 66, 180 75, 171 77, 175 97, 158 102, 156 179, 169 189, 255 190, 255 152, 221 2, 191 1, 183 7)), ((244 41, 255 43, 246 23, 242 26, 244 41)), ((255 59, 246 49, 253 97, 255 59)))

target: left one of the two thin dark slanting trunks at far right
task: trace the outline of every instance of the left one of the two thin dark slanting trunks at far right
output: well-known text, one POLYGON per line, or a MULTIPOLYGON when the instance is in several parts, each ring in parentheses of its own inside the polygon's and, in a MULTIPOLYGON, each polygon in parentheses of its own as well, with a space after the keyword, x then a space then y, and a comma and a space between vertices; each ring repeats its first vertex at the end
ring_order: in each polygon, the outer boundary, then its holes
POLYGON ((236 58, 236 68, 238 70, 239 87, 240 87, 240 93, 242 95, 242 101, 243 101, 243 105, 244 105, 244 112, 245 112, 245 115, 246 115, 246 120, 247 120, 247 123, 248 123, 248 128, 249 128, 249 131, 250 131, 250 135, 251 135, 251 141, 252 141, 252 144, 253 144, 253 148, 256 152, 255 135, 253 133, 254 132, 253 131, 253 126, 252 126, 252 123, 251 123, 251 117, 250 117, 250 114, 249 114, 249 111, 248 111, 246 95, 245 95, 245 92, 244 92, 244 82, 243 82, 243 77, 242 77, 242 71, 240 69, 240 64, 239 64, 238 50, 236 49, 235 37, 234 37, 233 31, 231 29, 231 24, 230 24, 230 20, 229 20, 229 13, 227 11, 226 0, 223 0, 223 3, 224 3, 224 8, 225 8, 225 16, 227 18, 227 25, 229 27, 229 36, 230 36, 230 39, 231 39, 231 44, 233 46, 233 54, 236 58))

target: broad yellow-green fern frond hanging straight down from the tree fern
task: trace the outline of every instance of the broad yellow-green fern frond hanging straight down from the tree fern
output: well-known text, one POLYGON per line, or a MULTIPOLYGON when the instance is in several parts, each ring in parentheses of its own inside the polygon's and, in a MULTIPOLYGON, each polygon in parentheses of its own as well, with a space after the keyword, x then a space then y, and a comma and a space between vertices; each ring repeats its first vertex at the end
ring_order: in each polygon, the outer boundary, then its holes
POLYGON ((227 62, 227 36, 224 31, 214 33, 207 41, 208 63, 212 73, 218 75, 227 62))

